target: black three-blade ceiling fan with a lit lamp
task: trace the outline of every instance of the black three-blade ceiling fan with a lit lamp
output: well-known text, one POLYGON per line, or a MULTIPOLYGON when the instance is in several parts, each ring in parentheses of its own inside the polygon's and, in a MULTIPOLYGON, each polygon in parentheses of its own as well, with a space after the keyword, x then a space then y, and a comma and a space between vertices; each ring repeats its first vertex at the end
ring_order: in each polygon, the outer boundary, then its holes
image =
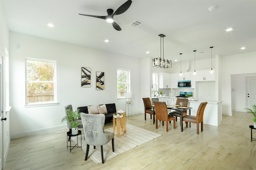
POLYGON ((79 15, 84 15, 84 16, 91 16, 91 17, 95 17, 95 18, 101 18, 106 20, 109 23, 112 23, 112 26, 114 27, 114 29, 121 31, 122 29, 120 28, 120 26, 118 24, 116 24, 116 22, 114 22, 114 16, 115 15, 119 15, 122 14, 124 12, 126 12, 126 10, 128 10, 128 8, 131 6, 132 4, 132 0, 128 0, 126 1, 124 4, 122 4, 117 10, 116 12, 114 12, 113 9, 107 9, 107 16, 95 16, 95 15, 87 15, 87 14, 79 14, 79 15))

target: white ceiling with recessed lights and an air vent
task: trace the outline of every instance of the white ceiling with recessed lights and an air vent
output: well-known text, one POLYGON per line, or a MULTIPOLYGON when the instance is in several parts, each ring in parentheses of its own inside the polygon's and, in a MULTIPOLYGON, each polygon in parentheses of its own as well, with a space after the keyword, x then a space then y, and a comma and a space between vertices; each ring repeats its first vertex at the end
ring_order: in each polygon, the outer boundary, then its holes
POLYGON ((256 51, 256 0, 132 0, 126 12, 114 16, 121 31, 78 13, 106 16, 108 8, 115 11, 126 0, 1 1, 10 31, 130 57, 160 57, 159 34, 166 36, 164 58, 177 62, 179 53, 182 62, 194 61, 193 50, 196 60, 210 58, 210 46, 213 57, 256 51), (211 6, 217 9, 210 12, 211 6), (130 26, 135 20, 143 24, 130 26), (234 30, 226 32, 230 27, 234 30))

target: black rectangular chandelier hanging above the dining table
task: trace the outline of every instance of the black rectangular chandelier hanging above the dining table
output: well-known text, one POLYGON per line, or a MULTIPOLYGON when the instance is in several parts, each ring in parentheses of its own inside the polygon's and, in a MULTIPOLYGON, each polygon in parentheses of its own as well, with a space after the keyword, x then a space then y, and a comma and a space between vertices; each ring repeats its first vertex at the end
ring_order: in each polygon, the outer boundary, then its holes
POLYGON ((172 61, 168 59, 164 59, 164 34, 158 35, 160 37, 160 57, 153 59, 153 67, 160 67, 160 68, 172 68, 172 61), (163 39, 163 40, 162 40, 163 39), (162 41, 163 41, 163 49, 162 49, 162 41), (163 58, 162 58, 162 51, 163 51, 163 58))

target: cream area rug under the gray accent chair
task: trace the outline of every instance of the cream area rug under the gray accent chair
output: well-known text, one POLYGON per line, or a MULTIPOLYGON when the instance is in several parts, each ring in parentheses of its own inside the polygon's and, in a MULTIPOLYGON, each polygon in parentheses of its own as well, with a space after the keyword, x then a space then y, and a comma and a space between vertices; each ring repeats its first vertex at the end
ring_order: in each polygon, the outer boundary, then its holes
MULTIPOLYGON (((113 127, 106 128, 105 131, 113 132, 113 127)), ((162 134, 151 132, 149 130, 139 128, 133 125, 126 125, 126 133, 121 137, 114 137, 115 152, 112 152, 112 142, 103 145, 103 155, 104 160, 108 160, 118 154, 121 154, 127 150, 135 148, 140 144, 144 144, 162 134)), ((76 138, 72 138, 72 141, 76 143, 76 138)), ((78 146, 80 146, 80 138, 78 138, 78 146)), ((86 152, 86 142, 84 141, 84 134, 82 134, 82 149, 86 152)), ((84 155, 85 156, 85 155, 84 155)), ((101 151, 100 146, 96 146, 96 149, 93 149, 93 146, 90 146, 88 158, 91 158, 94 162, 101 163, 101 151)))

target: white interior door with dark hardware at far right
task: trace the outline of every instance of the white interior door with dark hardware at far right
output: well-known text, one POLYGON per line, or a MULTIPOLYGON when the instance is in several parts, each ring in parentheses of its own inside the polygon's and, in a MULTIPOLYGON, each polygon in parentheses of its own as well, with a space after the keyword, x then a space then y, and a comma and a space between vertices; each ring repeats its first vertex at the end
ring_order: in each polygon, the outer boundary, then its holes
POLYGON ((256 77, 246 77, 247 86, 247 108, 252 109, 252 105, 256 104, 256 77))

